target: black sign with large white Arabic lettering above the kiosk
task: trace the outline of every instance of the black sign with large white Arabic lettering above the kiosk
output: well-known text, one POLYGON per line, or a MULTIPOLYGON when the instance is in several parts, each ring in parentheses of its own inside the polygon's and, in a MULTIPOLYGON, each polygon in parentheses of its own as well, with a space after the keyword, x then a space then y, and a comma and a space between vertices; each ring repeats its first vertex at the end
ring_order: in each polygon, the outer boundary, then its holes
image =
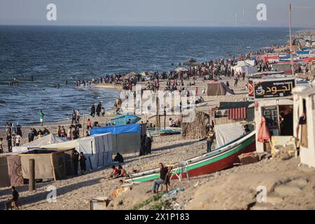
POLYGON ((269 80, 253 83, 255 99, 290 97, 295 87, 295 80, 269 80))

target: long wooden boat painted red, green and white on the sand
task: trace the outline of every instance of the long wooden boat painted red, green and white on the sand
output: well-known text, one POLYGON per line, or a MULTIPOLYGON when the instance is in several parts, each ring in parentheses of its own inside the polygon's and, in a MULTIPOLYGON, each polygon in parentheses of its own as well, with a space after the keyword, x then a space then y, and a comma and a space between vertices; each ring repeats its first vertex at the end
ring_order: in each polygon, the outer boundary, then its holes
MULTIPOLYGON (((179 179, 179 174, 182 173, 182 179, 189 177, 202 176, 204 174, 211 174, 222 169, 233 167, 239 163, 238 156, 243 153, 250 153, 255 151, 255 131, 243 135, 234 141, 231 141, 224 146, 217 148, 211 153, 201 155, 197 158, 192 158, 184 162, 172 165, 171 179, 179 179), (187 172, 183 172, 183 164, 187 172)), ((146 181, 153 181, 160 178, 160 169, 151 169, 145 172, 130 174, 130 177, 125 181, 129 183, 141 183, 146 181)))

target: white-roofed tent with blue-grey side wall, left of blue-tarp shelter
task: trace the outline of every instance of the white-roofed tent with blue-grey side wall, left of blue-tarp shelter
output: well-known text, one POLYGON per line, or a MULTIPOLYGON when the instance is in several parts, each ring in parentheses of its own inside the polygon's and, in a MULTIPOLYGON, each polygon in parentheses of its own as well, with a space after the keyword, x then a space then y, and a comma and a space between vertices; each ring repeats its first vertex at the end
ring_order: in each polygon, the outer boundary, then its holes
POLYGON ((50 144, 44 148, 75 148, 78 153, 83 153, 87 158, 87 172, 99 167, 106 167, 112 162, 112 135, 95 134, 91 137, 50 144))

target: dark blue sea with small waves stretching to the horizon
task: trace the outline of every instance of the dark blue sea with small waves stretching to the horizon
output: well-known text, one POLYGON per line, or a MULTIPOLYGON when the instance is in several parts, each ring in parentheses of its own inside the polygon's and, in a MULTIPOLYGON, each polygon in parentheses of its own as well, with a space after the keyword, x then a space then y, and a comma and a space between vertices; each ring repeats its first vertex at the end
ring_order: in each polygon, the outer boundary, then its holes
POLYGON ((73 109, 89 113, 99 101, 113 106, 117 91, 78 89, 76 78, 169 71, 190 57, 206 61, 287 41, 287 28, 0 26, 0 126, 36 123, 41 110, 52 121, 73 109), (13 78, 19 86, 7 85, 13 78))

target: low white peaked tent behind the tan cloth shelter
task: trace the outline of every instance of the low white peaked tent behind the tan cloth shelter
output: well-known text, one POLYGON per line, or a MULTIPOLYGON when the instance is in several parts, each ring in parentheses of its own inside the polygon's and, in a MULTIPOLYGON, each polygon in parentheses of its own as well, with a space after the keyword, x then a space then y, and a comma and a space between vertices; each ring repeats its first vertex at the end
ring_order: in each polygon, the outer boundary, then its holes
POLYGON ((39 147, 43 147, 49 144, 57 144, 57 143, 65 142, 65 141, 68 141, 68 139, 57 137, 56 134, 48 134, 44 137, 36 139, 35 141, 31 141, 28 144, 25 144, 23 146, 13 147, 12 151, 22 152, 22 151, 29 150, 30 148, 39 148, 39 147))

